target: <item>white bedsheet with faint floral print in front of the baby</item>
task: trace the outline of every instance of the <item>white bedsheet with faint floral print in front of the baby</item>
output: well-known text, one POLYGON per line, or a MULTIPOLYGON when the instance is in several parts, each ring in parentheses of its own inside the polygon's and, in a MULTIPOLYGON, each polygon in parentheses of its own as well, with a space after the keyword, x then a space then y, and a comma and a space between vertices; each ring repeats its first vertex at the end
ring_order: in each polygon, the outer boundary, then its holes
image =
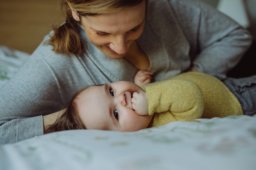
POLYGON ((255 170, 256 116, 50 133, 0 146, 0 169, 255 170))

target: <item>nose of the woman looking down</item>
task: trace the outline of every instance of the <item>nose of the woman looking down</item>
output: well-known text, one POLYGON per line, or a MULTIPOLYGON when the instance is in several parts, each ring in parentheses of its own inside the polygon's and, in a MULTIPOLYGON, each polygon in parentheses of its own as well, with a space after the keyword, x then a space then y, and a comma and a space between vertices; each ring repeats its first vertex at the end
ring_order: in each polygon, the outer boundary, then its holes
POLYGON ((125 40, 125 36, 121 35, 115 37, 113 43, 109 44, 109 47, 117 54, 125 54, 128 49, 128 42, 125 40))

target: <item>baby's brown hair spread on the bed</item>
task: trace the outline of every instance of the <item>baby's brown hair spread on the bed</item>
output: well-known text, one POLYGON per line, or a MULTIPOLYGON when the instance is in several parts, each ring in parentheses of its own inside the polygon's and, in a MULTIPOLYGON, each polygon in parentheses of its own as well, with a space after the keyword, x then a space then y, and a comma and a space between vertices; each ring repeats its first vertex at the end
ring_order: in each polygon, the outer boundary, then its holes
POLYGON ((102 84, 86 86, 84 88, 81 88, 78 92, 76 92, 72 99, 64 106, 64 111, 58 116, 55 123, 46 127, 45 133, 73 129, 86 129, 78 114, 76 100, 78 99, 79 94, 81 94, 84 90, 92 86, 102 86, 102 84))

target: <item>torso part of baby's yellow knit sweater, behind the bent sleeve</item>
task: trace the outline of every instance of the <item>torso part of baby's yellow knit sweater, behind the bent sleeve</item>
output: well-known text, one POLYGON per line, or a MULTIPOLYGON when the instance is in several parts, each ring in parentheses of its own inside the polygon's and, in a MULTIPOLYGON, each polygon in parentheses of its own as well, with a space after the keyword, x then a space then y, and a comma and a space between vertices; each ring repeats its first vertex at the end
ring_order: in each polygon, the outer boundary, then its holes
POLYGON ((186 72, 169 80, 184 79, 196 83, 204 95, 204 112, 201 118, 243 115, 240 102, 235 95, 217 78, 200 73, 186 72))

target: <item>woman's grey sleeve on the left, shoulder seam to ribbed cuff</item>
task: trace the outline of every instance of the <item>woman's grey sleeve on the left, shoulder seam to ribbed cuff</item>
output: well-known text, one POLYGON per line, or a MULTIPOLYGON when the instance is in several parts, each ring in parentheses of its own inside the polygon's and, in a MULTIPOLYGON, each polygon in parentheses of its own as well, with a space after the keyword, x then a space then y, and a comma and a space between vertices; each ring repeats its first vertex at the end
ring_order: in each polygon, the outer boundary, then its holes
POLYGON ((63 105, 52 71, 37 56, 0 88, 0 144, 43 134, 43 117, 63 105))

